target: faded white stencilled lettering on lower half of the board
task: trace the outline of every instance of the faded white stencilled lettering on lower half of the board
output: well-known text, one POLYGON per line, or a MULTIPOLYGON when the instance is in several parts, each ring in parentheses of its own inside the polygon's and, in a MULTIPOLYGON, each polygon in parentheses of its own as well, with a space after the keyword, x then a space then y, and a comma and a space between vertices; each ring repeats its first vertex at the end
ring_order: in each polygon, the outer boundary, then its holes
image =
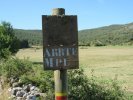
POLYGON ((45 66, 59 67, 68 66, 67 57, 77 55, 77 48, 46 48, 45 49, 45 66))

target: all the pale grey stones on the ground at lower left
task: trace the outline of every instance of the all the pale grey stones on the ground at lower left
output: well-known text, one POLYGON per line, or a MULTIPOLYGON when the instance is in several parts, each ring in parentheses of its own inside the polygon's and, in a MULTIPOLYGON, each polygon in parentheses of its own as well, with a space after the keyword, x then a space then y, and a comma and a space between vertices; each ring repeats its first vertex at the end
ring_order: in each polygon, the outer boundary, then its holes
MULTIPOLYGON (((42 93, 40 89, 32 84, 20 85, 19 81, 11 79, 11 87, 8 89, 9 100, 45 100, 46 94, 42 93), (38 99, 37 99, 38 98, 38 99)), ((2 80, 0 80, 0 95, 3 92, 2 80)))

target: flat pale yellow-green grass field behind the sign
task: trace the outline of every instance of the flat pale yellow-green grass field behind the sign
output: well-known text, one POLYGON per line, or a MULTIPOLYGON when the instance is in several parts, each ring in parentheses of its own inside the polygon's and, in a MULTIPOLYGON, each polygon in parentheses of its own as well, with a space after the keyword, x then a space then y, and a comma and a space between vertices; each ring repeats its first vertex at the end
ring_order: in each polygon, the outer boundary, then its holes
MULTIPOLYGON (((21 49, 18 58, 28 58, 33 62, 42 62, 42 49, 21 49)), ((79 63, 85 74, 93 74, 102 79, 114 79, 127 91, 133 92, 133 46, 80 47, 79 63)))

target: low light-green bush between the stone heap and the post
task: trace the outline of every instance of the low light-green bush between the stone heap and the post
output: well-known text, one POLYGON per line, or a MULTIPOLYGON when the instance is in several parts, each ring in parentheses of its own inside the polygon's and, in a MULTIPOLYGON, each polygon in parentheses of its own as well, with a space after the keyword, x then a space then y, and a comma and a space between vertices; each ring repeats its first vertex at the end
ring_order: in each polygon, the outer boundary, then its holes
POLYGON ((34 66, 33 72, 20 77, 23 84, 33 84, 38 86, 42 92, 54 91, 53 73, 44 71, 41 66, 34 66))

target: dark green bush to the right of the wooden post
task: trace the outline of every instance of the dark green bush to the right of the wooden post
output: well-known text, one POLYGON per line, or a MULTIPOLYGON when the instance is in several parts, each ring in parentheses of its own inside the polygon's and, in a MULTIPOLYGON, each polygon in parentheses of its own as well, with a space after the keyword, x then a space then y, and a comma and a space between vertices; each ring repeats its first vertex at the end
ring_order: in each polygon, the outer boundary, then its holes
POLYGON ((69 71, 69 100, 126 100, 116 80, 101 82, 92 75, 88 79, 83 70, 69 71))

